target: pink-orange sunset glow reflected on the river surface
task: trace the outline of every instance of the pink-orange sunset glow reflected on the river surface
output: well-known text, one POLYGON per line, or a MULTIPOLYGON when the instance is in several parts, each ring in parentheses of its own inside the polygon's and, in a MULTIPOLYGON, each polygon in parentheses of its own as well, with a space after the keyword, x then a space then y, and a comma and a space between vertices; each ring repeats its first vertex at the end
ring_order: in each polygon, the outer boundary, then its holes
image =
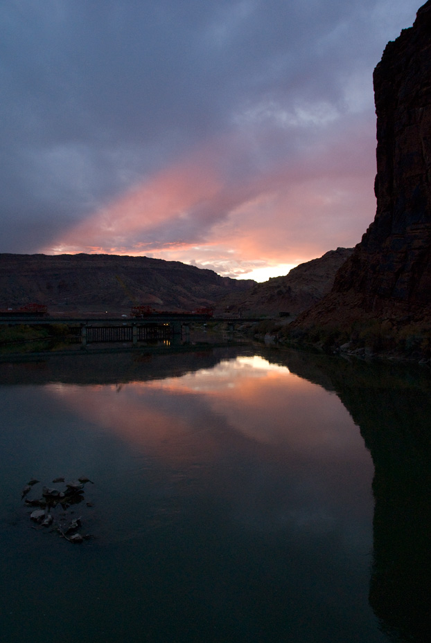
MULTIPOLYGON (((221 444, 215 428, 220 418, 243 438, 258 444, 278 445, 281 449, 289 449, 290 441, 294 440, 296 448, 300 445, 304 451, 315 451, 326 445, 336 457, 354 441, 354 435, 345 433, 345 441, 340 442, 332 410, 327 409, 328 415, 323 412, 316 415, 310 406, 312 396, 328 398, 323 388, 260 356, 221 361, 214 368, 182 377, 137 381, 120 388, 63 386, 60 389, 53 384, 47 386, 47 390, 83 422, 172 462, 193 462, 202 449, 206 457, 217 459, 221 444), (161 404, 161 400, 166 399, 163 396, 170 400, 168 406, 161 404), (268 405, 272 409, 270 425, 268 405), (292 408, 289 417, 285 415, 286 406, 292 408), (242 409, 240 415, 238 407, 242 409), (202 427, 198 431, 191 431, 188 408, 194 409, 195 424, 199 424, 201 417, 202 427), (305 424, 304 417, 307 418, 305 424)), ((340 400, 334 396, 332 401, 330 406, 337 407, 340 423, 351 422, 340 400)))

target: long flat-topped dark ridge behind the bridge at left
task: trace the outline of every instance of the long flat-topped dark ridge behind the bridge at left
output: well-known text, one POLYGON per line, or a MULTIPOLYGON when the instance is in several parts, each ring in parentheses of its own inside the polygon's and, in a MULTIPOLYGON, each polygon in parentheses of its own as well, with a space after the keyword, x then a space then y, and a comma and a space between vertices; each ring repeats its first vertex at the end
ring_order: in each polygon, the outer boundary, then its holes
POLYGON ((136 304, 190 311, 254 284, 148 257, 0 254, 0 308, 39 302, 66 313, 127 314, 136 304))

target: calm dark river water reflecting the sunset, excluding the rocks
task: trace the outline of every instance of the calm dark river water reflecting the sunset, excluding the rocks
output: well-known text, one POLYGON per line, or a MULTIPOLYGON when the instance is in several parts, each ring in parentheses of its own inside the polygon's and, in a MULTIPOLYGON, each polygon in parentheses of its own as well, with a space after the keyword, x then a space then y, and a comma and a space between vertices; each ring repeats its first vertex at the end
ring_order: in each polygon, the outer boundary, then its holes
POLYGON ((428 640, 428 373, 219 348, 0 383, 2 642, 428 640), (82 475, 73 545, 21 489, 82 475))

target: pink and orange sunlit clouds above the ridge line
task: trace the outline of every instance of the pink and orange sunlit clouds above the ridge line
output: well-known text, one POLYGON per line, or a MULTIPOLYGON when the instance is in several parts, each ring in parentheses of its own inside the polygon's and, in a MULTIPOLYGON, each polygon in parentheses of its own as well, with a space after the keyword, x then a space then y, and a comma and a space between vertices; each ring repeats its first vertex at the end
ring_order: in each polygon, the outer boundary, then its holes
POLYGON ((208 141, 44 251, 150 255, 241 276, 352 246, 375 210, 374 141, 360 127, 354 140, 335 127, 331 136, 265 163, 244 134, 208 141))

